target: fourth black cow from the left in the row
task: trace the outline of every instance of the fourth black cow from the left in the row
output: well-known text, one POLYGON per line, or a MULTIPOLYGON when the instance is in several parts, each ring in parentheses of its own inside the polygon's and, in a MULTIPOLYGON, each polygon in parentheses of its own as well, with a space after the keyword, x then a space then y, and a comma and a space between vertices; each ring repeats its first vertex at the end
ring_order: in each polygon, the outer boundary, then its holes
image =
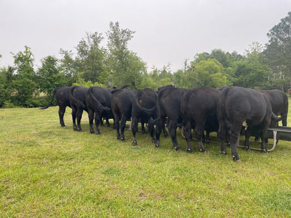
POLYGON ((124 141, 125 124, 132 117, 134 91, 129 89, 113 89, 111 93, 111 110, 115 119, 117 138, 124 141))

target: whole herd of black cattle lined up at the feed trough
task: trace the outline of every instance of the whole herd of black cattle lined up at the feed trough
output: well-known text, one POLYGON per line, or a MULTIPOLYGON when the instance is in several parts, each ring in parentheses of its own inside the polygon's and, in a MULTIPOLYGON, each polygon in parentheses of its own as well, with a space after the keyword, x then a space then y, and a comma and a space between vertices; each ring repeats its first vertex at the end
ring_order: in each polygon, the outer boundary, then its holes
MULTIPOLYGON (((141 122, 143 132, 145 131, 144 124, 148 124, 152 143, 155 143, 156 147, 160 146, 161 132, 164 131, 164 134, 167 134, 164 128, 166 124, 176 150, 180 149, 176 129, 183 126, 187 152, 192 152, 190 144, 192 129, 201 152, 205 152, 202 143, 204 131, 206 131, 206 140, 209 139, 209 133, 215 131, 218 132, 220 138, 220 152, 227 154, 225 142, 229 143, 234 161, 239 160, 236 145, 243 124, 248 126, 244 131, 246 149, 249 148, 248 138, 252 134, 252 129, 256 129, 262 138, 263 152, 267 152, 267 129, 270 126, 278 126, 281 120, 283 126, 287 126, 288 96, 278 89, 268 91, 242 87, 182 89, 167 85, 154 92, 149 88, 129 90, 125 89, 126 87, 120 89, 78 86, 56 88, 52 100, 54 96, 57 99, 60 124, 65 126, 64 112, 69 106, 72 109, 75 131, 81 131, 80 119, 85 110, 89 116, 90 133, 94 133, 93 121, 95 132, 100 134, 99 125, 103 124, 102 119, 106 118, 106 124, 109 125, 108 119, 113 118, 117 138, 125 140, 125 124, 132 117, 132 145, 137 145, 136 132, 138 122, 141 122), (277 117, 279 115, 280 117, 277 117)), ((50 105, 51 103, 52 101, 50 105)))

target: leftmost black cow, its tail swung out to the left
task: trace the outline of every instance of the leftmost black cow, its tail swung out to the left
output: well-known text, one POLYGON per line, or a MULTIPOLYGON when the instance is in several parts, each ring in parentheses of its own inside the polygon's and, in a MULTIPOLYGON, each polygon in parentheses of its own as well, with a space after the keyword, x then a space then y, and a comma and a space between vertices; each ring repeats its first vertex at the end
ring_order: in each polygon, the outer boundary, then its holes
POLYGON ((66 127, 64 124, 64 112, 66 111, 66 107, 71 108, 70 104, 70 92, 72 87, 57 87, 52 92, 52 99, 48 106, 45 106, 41 109, 46 109, 52 105, 52 101, 55 97, 57 99, 57 105, 59 106, 59 123, 62 127, 66 127))

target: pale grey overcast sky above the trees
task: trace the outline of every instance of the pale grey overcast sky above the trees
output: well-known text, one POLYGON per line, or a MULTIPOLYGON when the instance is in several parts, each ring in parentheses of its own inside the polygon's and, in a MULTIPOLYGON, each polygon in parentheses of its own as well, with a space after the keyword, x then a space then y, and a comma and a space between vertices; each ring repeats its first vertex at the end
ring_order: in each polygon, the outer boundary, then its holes
POLYGON ((101 33, 106 47, 109 22, 136 31, 129 50, 148 64, 174 72, 185 59, 221 49, 245 50, 254 41, 268 42, 269 30, 286 17, 291 0, 0 0, 0 66, 31 48, 40 66, 60 48, 76 52, 86 32, 101 33))

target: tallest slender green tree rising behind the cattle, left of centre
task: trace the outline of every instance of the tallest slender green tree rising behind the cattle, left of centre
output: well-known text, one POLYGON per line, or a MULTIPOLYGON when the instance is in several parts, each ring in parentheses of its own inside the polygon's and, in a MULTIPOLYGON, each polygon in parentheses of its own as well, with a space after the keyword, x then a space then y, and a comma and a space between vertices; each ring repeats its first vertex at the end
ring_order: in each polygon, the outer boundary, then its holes
POLYGON ((108 66, 111 70, 110 82, 116 87, 134 82, 136 87, 141 84, 141 76, 146 72, 144 63, 136 53, 127 47, 128 42, 134 37, 134 31, 120 29, 118 22, 110 22, 108 37, 108 66))

